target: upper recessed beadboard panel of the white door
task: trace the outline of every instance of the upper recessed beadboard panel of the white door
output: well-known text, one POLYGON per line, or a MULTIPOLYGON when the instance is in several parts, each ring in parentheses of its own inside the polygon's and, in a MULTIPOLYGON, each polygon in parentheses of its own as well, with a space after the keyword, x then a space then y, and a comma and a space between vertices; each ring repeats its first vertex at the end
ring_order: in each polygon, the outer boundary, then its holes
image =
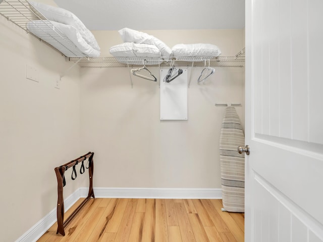
POLYGON ((260 10, 254 16, 257 134, 323 144, 317 111, 323 82, 314 81, 321 79, 323 6, 315 3, 323 5, 317 0, 254 3, 260 10))

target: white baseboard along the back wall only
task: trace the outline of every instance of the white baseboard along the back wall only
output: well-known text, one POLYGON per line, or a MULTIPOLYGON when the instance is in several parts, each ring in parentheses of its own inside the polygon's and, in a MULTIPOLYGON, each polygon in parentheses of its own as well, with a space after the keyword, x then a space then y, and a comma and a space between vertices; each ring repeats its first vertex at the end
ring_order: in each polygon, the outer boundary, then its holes
MULTIPOLYGON (((80 188, 81 197, 88 189, 80 188)), ((94 188, 96 198, 222 199, 222 189, 94 188)))

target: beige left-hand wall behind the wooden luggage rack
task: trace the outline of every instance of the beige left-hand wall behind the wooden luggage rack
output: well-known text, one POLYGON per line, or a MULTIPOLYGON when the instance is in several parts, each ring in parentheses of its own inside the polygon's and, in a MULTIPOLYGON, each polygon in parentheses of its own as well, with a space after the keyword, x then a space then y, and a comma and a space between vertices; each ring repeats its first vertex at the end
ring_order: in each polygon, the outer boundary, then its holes
MULTIPOLYGON (((71 64, 3 17, 0 29, 0 231, 14 241, 56 207, 54 168, 80 155, 79 68, 56 89, 71 64), (39 82, 26 79, 26 65, 39 82)), ((84 186, 69 180, 65 197, 84 186)))

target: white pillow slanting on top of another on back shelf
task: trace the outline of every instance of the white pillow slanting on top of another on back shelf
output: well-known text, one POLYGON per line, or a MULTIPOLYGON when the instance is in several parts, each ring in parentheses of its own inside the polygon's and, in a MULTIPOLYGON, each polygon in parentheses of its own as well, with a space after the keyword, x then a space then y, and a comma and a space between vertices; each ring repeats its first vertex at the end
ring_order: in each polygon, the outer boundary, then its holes
POLYGON ((138 44, 151 44, 158 47, 161 56, 169 57, 172 50, 163 41, 144 32, 134 29, 123 28, 119 30, 123 42, 134 42, 138 44))

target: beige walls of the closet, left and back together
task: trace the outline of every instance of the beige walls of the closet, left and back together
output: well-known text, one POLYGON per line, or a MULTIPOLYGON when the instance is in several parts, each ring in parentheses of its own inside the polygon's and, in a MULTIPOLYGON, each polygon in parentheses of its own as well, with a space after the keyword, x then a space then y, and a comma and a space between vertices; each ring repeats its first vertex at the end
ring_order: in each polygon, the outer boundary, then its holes
MULTIPOLYGON (((204 85, 192 70, 189 120, 159 120, 159 88, 125 68, 74 67, 56 50, 0 18, 0 183, 2 239, 13 241, 39 222, 57 202, 54 167, 95 152, 95 187, 220 188, 218 154, 223 107, 243 103, 243 70, 217 68, 204 85), (26 79, 26 65, 39 82, 26 79), (80 139, 81 138, 81 139, 80 139)), ((209 42, 234 55, 243 47, 242 30, 147 31, 170 47, 209 42), (190 41, 188 41, 190 40, 190 41)), ((102 56, 121 43, 117 31, 95 32, 102 56)), ((152 68, 158 75, 158 69, 152 68)), ((244 120, 243 107, 237 108, 244 120)), ((67 171, 67 177, 70 176, 67 171)), ((87 186, 67 179, 65 198, 87 186)))

